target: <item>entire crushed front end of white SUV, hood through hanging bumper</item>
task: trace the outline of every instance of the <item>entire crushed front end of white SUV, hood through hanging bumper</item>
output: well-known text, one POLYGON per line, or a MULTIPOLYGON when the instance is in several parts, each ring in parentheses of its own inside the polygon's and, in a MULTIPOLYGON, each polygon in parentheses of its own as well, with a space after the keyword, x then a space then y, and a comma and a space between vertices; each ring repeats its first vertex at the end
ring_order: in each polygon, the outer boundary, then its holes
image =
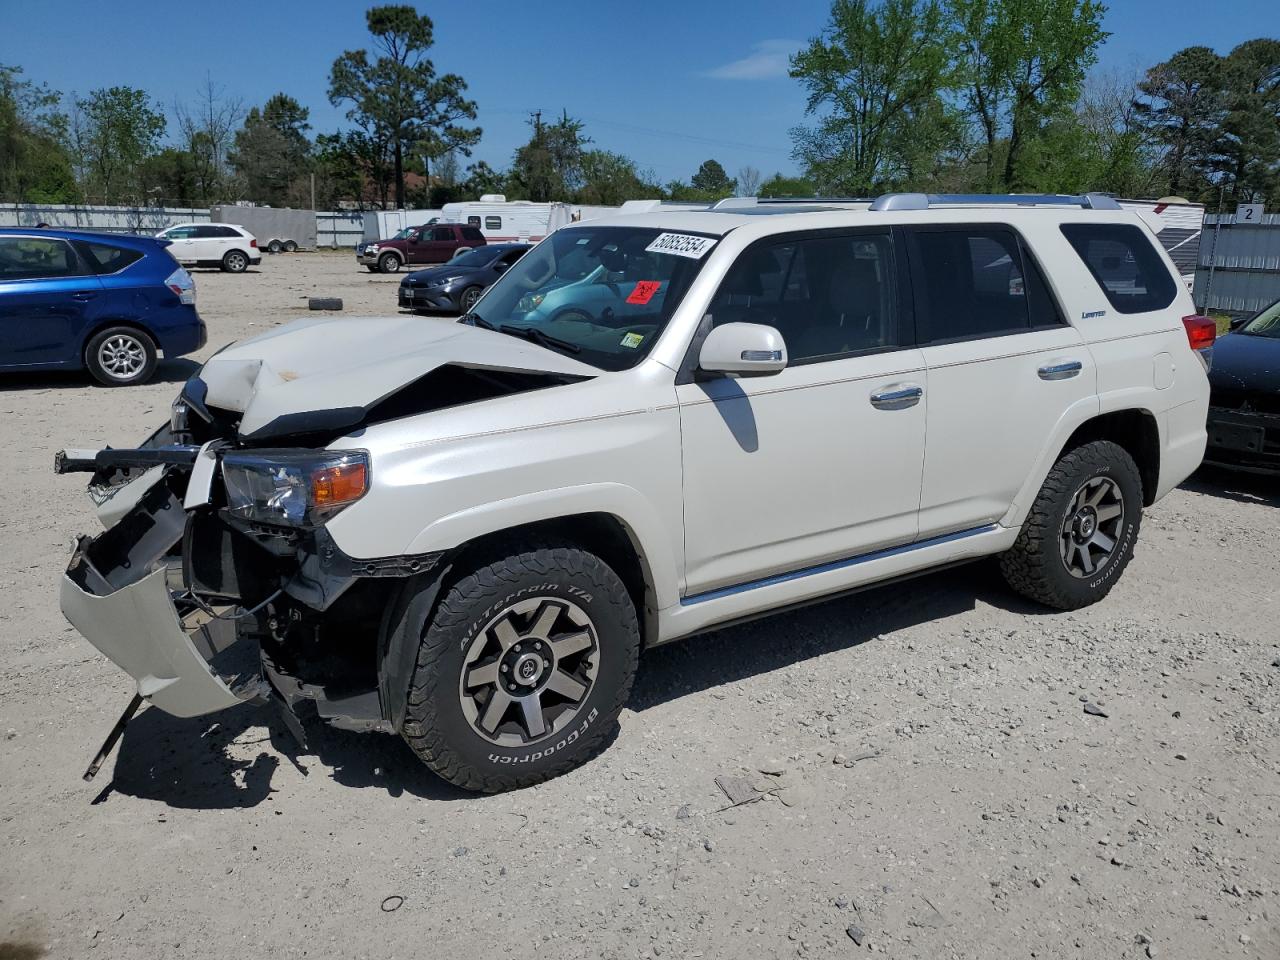
POLYGON ((274 703, 300 740, 303 701, 343 728, 401 728, 417 637, 397 630, 397 613, 447 558, 340 549, 326 525, 370 495, 378 471, 358 438, 590 369, 465 325, 434 337, 419 326, 421 348, 390 361, 378 358, 385 346, 364 346, 399 323, 358 333, 303 323, 293 333, 305 337, 238 344, 184 385, 170 422, 137 448, 58 453, 56 472, 91 474, 105 527, 79 538, 61 609, 137 685, 86 778, 143 700, 177 717, 274 703), (364 342, 344 347, 344 337, 364 342), (451 358, 460 352, 479 360, 451 358))

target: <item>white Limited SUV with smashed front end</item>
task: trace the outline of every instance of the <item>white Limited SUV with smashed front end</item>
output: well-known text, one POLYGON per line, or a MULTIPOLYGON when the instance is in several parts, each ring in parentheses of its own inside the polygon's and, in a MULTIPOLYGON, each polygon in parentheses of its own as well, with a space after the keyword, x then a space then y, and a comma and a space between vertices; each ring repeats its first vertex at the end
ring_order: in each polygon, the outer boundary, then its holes
POLYGON ((655 644, 986 556, 1103 598, 1204 451, 1193 312, 1106 197, 567 227, 461 323, 301 320, 142 448, 60 454, 108 525, 63 611, 170 713, 310 700, 534 783, 655 644))

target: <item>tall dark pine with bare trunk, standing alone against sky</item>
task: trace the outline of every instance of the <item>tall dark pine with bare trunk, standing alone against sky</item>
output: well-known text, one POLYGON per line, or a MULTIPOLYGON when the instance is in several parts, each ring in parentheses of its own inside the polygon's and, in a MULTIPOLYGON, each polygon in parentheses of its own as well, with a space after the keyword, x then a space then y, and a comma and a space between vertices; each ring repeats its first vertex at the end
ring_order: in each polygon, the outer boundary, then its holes
POLYGON ((404 159, 420 152, 435 157, 449 150, 467 154, 480 128, 465 125, 476 116, 465 97, 462 77, 439 76, 426 52, 435 42, 431 18, 412 6, 374 6, 365 14, 374 56, 348 50, 329 72, 329 101, 349 104, 347 118, 392 155, 396 205, 404 206, 404 159))

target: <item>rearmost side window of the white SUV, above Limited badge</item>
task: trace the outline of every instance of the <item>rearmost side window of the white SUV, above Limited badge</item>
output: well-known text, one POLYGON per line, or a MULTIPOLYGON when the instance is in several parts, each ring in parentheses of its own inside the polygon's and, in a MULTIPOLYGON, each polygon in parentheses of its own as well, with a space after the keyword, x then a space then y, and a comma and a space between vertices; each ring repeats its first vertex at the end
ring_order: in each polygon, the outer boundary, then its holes
POLYGON ((1174 302, 1178 283, 1140 228, 1068 223, 1061 229, 1111 306, 1121 314, 1164 310, 1174 302))

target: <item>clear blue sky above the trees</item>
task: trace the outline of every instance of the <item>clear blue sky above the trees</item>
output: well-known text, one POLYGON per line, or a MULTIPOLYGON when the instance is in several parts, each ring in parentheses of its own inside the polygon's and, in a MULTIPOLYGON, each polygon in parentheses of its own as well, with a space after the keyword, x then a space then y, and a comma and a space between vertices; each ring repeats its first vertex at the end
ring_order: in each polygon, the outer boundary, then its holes
MULTIPOLYGON (((804 114, 787 54, 823 27, 828 0, 553 0, 419 3, 435 20, 434 60, 461 73, 485 131, 475 156, 509 164, 529 113, 562 109, 596 145, 660 180, 687 179, 707 157, 732 175, 750 164, 791 172, 787 129, 804 114)), ((206 73, 246 106, 283 90, 311 108, 312 127, 344 123, 329 105, 329 65, 364 46, 360 0, 241 3, 0 0, 0 63, 64 92, 143 87, 169 106, 206 73), (51 12, 56 15, 51 17, 51 12), (109 15, 108 15, 109 12, 109 15)), ((1115 0, 1103 69, 1139 69, 1204 44, 1226 52, 1280 36, 1276 0, 1115 0), (1207 10, 1217 12, 1208 15, 1207 10)))

